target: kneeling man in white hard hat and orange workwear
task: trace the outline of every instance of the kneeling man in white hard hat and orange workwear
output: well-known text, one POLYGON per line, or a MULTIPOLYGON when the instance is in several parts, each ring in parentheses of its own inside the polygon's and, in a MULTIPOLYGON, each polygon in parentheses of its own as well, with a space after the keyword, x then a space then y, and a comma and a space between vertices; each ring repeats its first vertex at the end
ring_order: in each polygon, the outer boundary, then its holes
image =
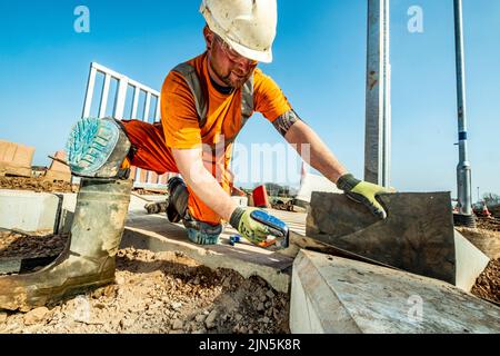
POLYGON ((111 177, 132 165, 159 175, 180 172, 182 179, 169 181, 168 217, 182 220, 191 241, 217 244, 226 220, 259 244, 269 229, 251 217, 254 208, 238 207, 230 198, 233 177, 228 169, 234 139, 258 111, 299 154, 310 146, 313 168, 384 218, 376 196, 387 190, 350 175, 279 86, 257 68, 272 61, 276 0, 203 0, 200 12, 207 50, 167 76, 161 122, 87 119, 73 129, 68 146, 72 171, 111 177))

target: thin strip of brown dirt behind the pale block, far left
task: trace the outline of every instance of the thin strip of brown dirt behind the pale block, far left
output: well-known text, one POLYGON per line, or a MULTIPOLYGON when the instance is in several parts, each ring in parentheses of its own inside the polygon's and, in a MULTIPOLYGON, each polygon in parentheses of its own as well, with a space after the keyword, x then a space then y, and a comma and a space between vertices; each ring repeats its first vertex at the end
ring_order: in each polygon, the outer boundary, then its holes
POLYGON ((43 178, 0 177, 0 189, 31 190, 36 192, 76 192, 77 187, 64 181, 48 181, 43 178))

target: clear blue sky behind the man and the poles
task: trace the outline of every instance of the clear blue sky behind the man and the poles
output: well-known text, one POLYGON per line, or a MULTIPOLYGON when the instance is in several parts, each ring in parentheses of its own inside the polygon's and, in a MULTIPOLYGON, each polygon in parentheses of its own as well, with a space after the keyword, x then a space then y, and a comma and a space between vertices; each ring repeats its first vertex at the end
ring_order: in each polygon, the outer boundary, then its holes
MULTIPOLYGON (((89 63, 160 89, 177 63, 203 51, 200 0, 0 0, 0 138, 63 147, 80 118, 89 63), (73 30, 77 6, 90 33, 73 30)), ((357 176, 363 171, 366 0, 280 0, 274 62, 261 68, 357 176)), ((473 198, 500 194, 500 1, 463 0, 473 198)), ((391 1, 392 185, 456 191, 452 0, 391 1), (410 33, 411 6, 423 33, 410 33)), ((279 142, 259 117, 240 142, 279 142)))

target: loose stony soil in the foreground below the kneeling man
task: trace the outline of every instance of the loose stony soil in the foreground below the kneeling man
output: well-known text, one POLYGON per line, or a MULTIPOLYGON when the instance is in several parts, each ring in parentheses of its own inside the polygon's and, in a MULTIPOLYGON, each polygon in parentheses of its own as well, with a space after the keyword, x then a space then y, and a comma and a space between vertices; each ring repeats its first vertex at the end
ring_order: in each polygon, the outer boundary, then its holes
POLYGON ((288 315, 288 296, 258 277, 124 249, 117 284, 28 314, 0 312, 0 333, 289 333, 288 315))

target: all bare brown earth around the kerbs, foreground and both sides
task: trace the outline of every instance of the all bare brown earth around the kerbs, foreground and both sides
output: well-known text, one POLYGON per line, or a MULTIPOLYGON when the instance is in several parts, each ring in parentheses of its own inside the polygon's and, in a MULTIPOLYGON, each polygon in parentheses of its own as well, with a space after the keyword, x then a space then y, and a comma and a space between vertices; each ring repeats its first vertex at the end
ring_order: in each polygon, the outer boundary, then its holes
MULTIPOLYGON (((0 189, 74 191, 70 185, 9 177, 0 178, 0 189)), ((481 239, 500 243, 496 220, 481 219, 478 229, 459 230, 477 246, 481 239)), ((64 236, 0 230, 0 258, 56 256, 66 240, 64 236)), ((488 246, 491 253, 491 243, 488 246)), ((490 258, 472 293, 500 303, 500 255, 490 258)), ((290 332, 289 295, 278 293, 260 277, 246 279, 231 269, 209 269, 173 250, 153 253, 128 247, 119 251, 117 261, 114 285, 27 314, 0 312, 0 333, 290 332)))

